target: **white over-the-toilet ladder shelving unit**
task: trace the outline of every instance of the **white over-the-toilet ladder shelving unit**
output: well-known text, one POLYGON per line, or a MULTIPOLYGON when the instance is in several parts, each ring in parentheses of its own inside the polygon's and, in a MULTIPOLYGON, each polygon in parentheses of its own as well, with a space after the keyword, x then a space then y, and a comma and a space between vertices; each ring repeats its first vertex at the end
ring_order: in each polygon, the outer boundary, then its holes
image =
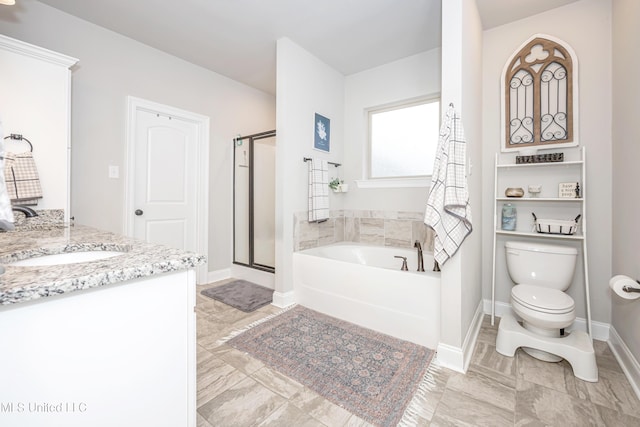
POLYGON ((514 238, 535 238, 551 240, 578 241, 581 244, 582 265, 584 268, 584 286, 587 305, 587 329, 591 336, 591 304, 589 297, 589 266, 587 263, 587 216, 586 211, 586 159, 585 148, 580 151, 580 159, 566 162, 550 163, 499 163, 498 154, 495 159, 494 176, 494 204, 493 204, 493 273, 491 283, 491 324, 495 320, 496 294, 496 251, 499 236, 513 236, 514 238), (562 182, 578 182, 580 184, 579 198, 560 198, 558 184, 562 182), (541 197, 527 197, 529 184, 541 184, 541 197), (504 197, 507 187, 521 187, 525 190, 525 197, 504 197), (502 205, 512 203, 517 210, 515 231, 501 229, 502 205), (533 228, 533 216, 538 218, 568 219, 580 214, 579 227, 575 234, 545 234, 538 233, 533 228))

